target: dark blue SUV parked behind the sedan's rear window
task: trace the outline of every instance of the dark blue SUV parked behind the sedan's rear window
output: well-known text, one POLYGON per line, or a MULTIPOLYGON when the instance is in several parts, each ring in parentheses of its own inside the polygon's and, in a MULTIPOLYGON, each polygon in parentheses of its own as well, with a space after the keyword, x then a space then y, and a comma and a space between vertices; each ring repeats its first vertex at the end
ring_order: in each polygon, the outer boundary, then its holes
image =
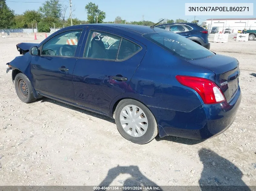
POLYGON ((208 41, 208 30, 194 23, 168 23, 160 24, 155 27, 165 29, 181 36, 184 36, 207 49, 210 49, 208 41))

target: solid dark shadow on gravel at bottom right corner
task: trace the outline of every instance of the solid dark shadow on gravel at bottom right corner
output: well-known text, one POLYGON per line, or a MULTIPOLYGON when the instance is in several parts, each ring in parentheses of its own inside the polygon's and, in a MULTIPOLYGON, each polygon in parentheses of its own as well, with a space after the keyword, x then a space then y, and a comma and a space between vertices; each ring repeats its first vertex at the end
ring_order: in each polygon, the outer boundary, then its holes
POLYGON ((202 191, 251 191, 242 180, 243 173, 233 163, 206 148, 198 155, 204 165, 199 180, 202 191))

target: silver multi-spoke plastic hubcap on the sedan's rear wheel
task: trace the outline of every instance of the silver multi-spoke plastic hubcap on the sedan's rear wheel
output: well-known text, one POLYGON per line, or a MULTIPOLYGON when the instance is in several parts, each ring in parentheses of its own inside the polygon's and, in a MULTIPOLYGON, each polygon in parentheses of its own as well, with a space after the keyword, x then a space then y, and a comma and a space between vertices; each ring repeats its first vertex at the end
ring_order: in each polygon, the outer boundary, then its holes
POLYGON ((147 116, 135 105, 128 105, 122 109, 120 122, 125 132, 133 137, 141 137, 148 129, 147 116))

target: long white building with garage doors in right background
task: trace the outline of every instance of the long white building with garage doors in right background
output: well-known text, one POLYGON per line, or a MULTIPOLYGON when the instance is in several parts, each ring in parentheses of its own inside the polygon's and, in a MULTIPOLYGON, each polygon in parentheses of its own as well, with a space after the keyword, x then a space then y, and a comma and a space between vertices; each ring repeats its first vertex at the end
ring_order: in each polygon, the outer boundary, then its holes
POLYGON ((209 31, 212 27, 219 27, 219 31, 221 32, 224 32, 226 28, 230 28, 233 33, 237 33, 238 30, 243 29, 256 30, 256 18, 212 18, 207 19, 203 23, 209 31))

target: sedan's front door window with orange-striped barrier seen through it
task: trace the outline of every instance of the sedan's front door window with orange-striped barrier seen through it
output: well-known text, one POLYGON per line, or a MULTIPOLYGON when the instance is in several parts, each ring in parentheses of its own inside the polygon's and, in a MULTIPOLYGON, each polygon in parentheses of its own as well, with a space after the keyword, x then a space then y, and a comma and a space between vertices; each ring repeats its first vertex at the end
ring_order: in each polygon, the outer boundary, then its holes
POLYGON ((69 30, 52 37, 42 47, 40 55, 75 56, 82 30, 69 30))

